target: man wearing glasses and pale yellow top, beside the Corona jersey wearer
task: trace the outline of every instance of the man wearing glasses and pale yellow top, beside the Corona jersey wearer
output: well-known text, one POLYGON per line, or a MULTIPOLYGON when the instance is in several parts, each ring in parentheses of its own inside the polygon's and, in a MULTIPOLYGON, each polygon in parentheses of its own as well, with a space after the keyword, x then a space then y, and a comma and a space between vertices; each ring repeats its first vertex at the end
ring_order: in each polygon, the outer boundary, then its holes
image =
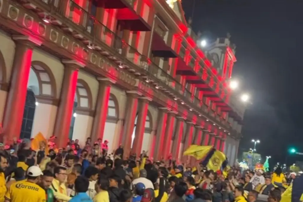
POLYGON ((55 178, 53 179, 51 189, 54 192, 56 200, 69 201, 72 198, 67 195, 65 181, 66 181, 66 168, 62 166, 55 167, 54 169, 55 178))

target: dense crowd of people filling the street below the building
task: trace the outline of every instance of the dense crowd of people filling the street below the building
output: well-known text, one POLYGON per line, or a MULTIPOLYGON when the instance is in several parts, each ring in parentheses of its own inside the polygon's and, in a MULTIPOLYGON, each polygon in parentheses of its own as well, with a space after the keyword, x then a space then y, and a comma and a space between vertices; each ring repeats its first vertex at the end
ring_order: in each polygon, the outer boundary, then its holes
POLYGON ((279 202, 285 191, 281 170, 265 175, 231 167, 226 176, 198 161, 153 161, 145 151, 122 159, 122 145, 108 154, 101 139, 88 138, 83 147, 69 141, 65 148, 54 139, 37 151, 28 139, 0 143, 0 202, 255 202, 258 194, 279 202))

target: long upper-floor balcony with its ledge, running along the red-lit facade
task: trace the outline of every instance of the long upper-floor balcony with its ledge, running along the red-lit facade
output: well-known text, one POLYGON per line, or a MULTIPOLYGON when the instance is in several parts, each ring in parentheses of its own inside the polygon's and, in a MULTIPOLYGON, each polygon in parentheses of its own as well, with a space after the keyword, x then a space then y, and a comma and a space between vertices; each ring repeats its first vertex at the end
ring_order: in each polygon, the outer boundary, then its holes
POLYGON ((171 75, 140 54, 74 1, 67 0, 69 8, 67 10, 66 7, 54 5, 53 1, 27 0, 27 3, 24 0, 20 1, 24 7, 37 12, 42 18, 47 17, 53 25, 69 31, 75 38, 87 44, 88 48, 98 51, 120 68, 142 77, 172 98, 180 100, 181 104, 190 108, 190 111, 196 111, 199 116, 204 116, 226 130, 231 129, 226 120, 218 118, 218 115, 211 115, 209 108, 171 75))

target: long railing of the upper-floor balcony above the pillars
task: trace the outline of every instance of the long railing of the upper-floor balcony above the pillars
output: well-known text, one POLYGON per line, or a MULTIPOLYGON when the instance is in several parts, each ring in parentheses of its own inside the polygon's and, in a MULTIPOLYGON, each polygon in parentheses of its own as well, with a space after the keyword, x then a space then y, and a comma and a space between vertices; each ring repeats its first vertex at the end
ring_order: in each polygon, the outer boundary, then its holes
MULTIPOLYGON (((138 66, 137 71, 139 71, 142 75, 146 75, 148 79, 155 81, 159 86, 165 89, 169 89, 169 91, 177 95, 178 98, 182 101, 194 104, 197 111, 204 112, 202 114, 209 115, 210 112, 208 108, 204 104, 201 105, 201 101, 193 94, 191 94, 191 92, 188 91, 185 86, 181 85, 166 71, 151 62, 149 58, 140 54, 135 48, 127 44, 124 39, 120 38, 111 29, 107 28, 105 25, 99 22, 95 16, 91 15, 88 11, 80 7, 73 0, 30 1, 39 1, 39 3, 43 2, 44 4, 47 4, 51 12, 55 12, 64 16, 67 21, 77 25, 77 27, 80 26, 80 29, 83 32, 91 35, 96 45, 98 45, 98 42, 101 41, 103 44, 111 48, 111 50, 115 50, 115 56, 120 55, 122 58, 126 58, 128 61, 138 66)), ((65 22, 65 24, 68 25, 67 22, 65 22)), ((221 121, 218 121, 218 119, 215 117, 210 117, 208 119, 214 121, 217 124, 223 124, 225 127, 230 127, 223 119, 221 119, 221 121)))

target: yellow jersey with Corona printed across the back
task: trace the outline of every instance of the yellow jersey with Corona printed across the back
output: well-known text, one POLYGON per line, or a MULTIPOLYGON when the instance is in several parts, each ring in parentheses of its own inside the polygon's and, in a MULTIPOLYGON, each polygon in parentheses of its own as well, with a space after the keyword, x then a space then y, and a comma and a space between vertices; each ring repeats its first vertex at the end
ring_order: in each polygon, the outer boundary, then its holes
POLYGON ((39 185, 27 180, 13 183, 5 194, 5 199, 11 202, 45 202, 45 190, 39 185))

